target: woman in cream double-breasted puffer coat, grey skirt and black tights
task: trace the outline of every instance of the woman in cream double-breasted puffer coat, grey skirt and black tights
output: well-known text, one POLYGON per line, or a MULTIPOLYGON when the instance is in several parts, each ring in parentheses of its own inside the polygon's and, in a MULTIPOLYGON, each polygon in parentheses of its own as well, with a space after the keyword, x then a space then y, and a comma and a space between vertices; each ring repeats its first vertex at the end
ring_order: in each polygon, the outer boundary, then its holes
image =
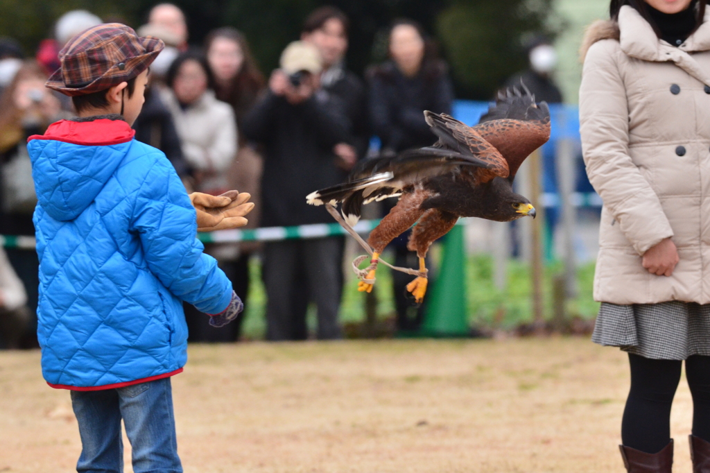
POLYGON ((685 360, 694 471, 710 472, 710 18, 704 0, 612 0, 610 13, 586 33, 579 92, 604 202, 593 340, 628 352, 628 471, 671 471, 685 360))

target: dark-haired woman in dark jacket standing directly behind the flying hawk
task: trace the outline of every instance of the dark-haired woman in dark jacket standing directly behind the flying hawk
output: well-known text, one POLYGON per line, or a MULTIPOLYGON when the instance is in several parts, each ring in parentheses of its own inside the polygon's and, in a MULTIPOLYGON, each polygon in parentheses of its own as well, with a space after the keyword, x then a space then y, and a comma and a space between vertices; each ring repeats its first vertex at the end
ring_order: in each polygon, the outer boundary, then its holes
MULTIPOLYGON (((366 74, 373 132, 380 138, 384 150, 396 152, 430 146, 436 136, 430 131, 423 112, 451 114, 454 90, 447 66, 437 59, 432 42, 414 21, 395 21, 389 34, 388 50, 390 60, 371 67, 366 74)), ((393 241, 397 266, 417 265, 416 255, 407 250, 408 237, 406 233, 393 241)), ((396 272, 393 278, 398 330, 416 331, 423 310, 413 308, 405 297, 410 278, 396 272)))

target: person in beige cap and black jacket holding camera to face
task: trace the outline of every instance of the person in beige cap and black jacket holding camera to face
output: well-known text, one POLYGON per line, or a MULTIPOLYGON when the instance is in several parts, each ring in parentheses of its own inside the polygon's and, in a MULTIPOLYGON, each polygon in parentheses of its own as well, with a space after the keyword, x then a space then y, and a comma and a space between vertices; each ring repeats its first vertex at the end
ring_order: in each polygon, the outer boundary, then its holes
MULTIPOLYGON (((350 129, 342 107, 320 88, 322 67, 314 45, 290 43, 267 92, 244 116, 244 135, 263 146, 262 227, 331 222, 322 207, 305 200, 313 190, 341 182, 333 149, 350 129)), ((266 242, 267 339, 306 339, 310 300, 318 310, 317 337, 341 337, 342 247, 342 237, 266 242)))

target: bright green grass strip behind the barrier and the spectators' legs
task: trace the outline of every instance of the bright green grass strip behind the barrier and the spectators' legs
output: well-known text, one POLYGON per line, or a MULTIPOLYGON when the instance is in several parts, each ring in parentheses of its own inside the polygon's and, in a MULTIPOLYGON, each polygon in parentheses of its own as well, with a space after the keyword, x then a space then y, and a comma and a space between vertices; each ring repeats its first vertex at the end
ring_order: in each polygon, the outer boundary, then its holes
MULTIPOLYGON (((388 255, 384 258, 391 261, 388 255)), ((510 330, 532 321, 530 268, 527 264, 510 260, 508 262, 508 283, 505 290, 498 290, 493 283, 493 259, 488 255, 469 256, 466 261, 467 300, 469 321, 472 326, 510 330)), ((551 263, 545 268, 545 312, 552 314, 552 278, 562 271, 562 263, 551 263)), ((350 275, 349 275, 350 276, 350 275)), ((594 263, 587 263, 577 271, 579 295, 569 300, 567 312, 573 317, 591 320, 596 317, 599 303, 592 298, 594 263)), ((264 312, 266 293, 261 282, 261 263, 251 261, 251 290, 246 307, 244 335, 249 339, 263 339, 266 332, 264 312)), ((378 317, 393 317, 394 301, 391 270, 385 266, 378 268, 376 293, 378 295, 378 317)), ((357 291, 357 280, 346 281, 341 305, 340 319, 343 323, 358 323, 365 320, 364 295, 357 291)), ((308 313, 309 327, 315 329, 315 307, 308 313)))

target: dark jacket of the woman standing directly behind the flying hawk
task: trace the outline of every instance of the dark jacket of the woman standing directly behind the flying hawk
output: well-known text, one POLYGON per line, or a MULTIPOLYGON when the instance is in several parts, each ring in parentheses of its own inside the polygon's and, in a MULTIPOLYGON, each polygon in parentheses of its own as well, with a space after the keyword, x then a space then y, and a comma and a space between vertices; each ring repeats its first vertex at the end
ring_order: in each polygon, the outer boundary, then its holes
POLYGON ((415 77, 405 77, 388 61, 367 72, 370 122, 382 148, 402 151, 430 146, 436 136, 423 112, 451 114, 454 88, 443 62, 434 62, 415 77))

